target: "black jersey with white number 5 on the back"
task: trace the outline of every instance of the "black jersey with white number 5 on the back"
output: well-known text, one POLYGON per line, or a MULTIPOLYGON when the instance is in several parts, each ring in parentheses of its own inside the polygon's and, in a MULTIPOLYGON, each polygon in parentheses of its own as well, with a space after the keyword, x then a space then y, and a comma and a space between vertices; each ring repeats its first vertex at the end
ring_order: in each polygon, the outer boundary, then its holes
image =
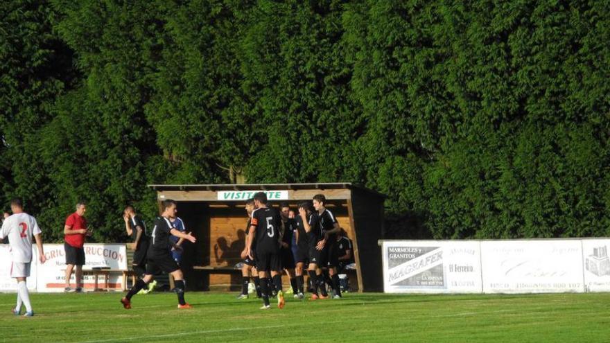
POLYGON ((279 249, 281 216, 272 207, 262 207, 252 212, 252 226, 256 227, 256 249, 275 251, 279 249))

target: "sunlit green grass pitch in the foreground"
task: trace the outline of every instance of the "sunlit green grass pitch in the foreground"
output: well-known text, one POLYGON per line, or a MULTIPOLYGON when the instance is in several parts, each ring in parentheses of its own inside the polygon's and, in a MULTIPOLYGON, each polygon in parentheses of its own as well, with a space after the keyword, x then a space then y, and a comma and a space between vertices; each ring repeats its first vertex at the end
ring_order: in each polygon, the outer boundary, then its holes
POLYGON ((346 294, 259 310, 259 299, 175 294, 30 294, 35 317, 15 317, 0 294, 0 342, 609 342, 610 294, 346 294))

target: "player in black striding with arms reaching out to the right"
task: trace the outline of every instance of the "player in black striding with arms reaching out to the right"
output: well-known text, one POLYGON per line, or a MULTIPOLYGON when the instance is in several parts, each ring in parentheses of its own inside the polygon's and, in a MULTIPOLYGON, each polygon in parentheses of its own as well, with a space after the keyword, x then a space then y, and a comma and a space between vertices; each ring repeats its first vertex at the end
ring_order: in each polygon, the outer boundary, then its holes
POLYGON ((139 290, 146 287, 146 284, 153 280, 153 276, 161 271, 171 274, 175 280, 174 291, 178 296, 178 308, 192 308, 191 305, 186 304, 186 301, 184 301, 184 277, 182 270, 180 270, 180 267, 178 267, 176 261, 172 258, 169 237, 173 235, 189 240, 192 243, 195 243, 196 239, 191 236, 190 232, 184 234, 184 232, 178 231, 171 224, 169 218, 175 216, 176 213, 176 202, 174 200, 164 200, 162 202, 162 210, 161 217, 155 220, 155 227, 153 227, 153 233, 151 234, 146 273, 129 290, 127 295, 121 299, 121 304, 123 304, 125 309, 131 308, 131 298, 134 294, 137 294, 139 290))

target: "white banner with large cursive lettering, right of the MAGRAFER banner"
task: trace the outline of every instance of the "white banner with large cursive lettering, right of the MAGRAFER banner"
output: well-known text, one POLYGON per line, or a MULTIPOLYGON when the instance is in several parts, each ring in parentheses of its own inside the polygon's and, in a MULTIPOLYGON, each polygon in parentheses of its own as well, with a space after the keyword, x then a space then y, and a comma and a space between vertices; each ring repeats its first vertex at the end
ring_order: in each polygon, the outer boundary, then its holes
POLYGON ((484 240, 483 292, 584 292, 581 240, 484 240))

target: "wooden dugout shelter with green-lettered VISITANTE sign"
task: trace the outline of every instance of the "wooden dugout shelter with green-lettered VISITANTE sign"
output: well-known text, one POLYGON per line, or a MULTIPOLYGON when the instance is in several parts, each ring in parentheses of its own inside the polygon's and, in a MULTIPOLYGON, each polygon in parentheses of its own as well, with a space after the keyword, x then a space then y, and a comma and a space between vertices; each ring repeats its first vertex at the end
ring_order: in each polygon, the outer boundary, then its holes
MULTIPOLYGON (((354 243, 355 273, 351 288, 359 292, 383 290, 381 254, 385 195, 351 183, 318 184, 152 184, 159 209, 163 200, 177 202, 177 216, 197 238, 186 244, 182 258, 187 285, 195 290, 238 288, 245 247, 245 200, 267 193, 271 206, 282 202, 297 211, 299 202, 324 194, 326 206, 354 243), (355 279, 355 280, 354 280, 355 279)), ((298 212, 297 212, 298 213, 298 212)))

